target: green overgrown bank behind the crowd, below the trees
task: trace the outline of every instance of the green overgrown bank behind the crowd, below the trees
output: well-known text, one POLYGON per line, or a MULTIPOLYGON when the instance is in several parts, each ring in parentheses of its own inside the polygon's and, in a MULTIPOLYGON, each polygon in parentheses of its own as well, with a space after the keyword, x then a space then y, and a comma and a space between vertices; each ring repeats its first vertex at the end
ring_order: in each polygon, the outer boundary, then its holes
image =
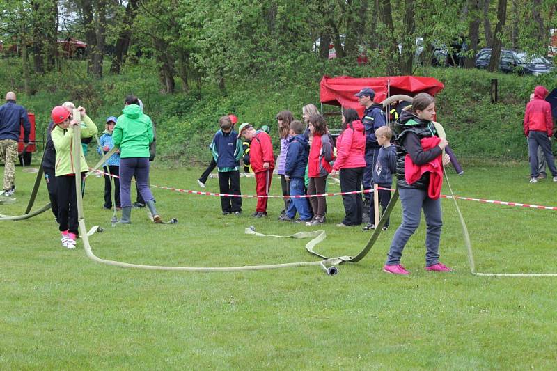
MULTIPOLYGON (((293 72, 290 79, 227 81, 226 94, 209 84, 201 91, 163 94, 159 93, 152 61, 126 65, 123 74, 107 74, 101 81, 86 77, 84 63, 64 61, 61 72, 35 77, 32 88, 36 94, 27 97, 21 93, 21 67, 11 63, 7 68, 10 61, 13 62, 13 58, 0 61, 0 86, 2 91, 15 88, 18 101, 36 113, 38 139, 49 121, 50 109, 56 104, 72 100, 86 106, 101 128, 107 116, 120 114, 125 95, 134 93, 143 100, 146 113, 157 123, 158 158, 176 164, 210 159, 207 145, 218 129, 220 116, 235 113, 240 123, 249 122, 256 127, 269 125, 276 138, 274 117, 278 111, 290 110, 295 118, 301 118, 304 104, 320 106, 322 74, 378 75, 370 66, 345 66, 330 61, 316 65, 311 73, 293 72)), ((521 127, 528 95, 537 84, 544 84, 549 90, 557 87, 555 73, 521 77, 483 70, 418 68, 416 75, 436 77, 445 84, 444 90, 437 95, 437 117, 446 127, 453 150, 465 161, 526 159, 526 141, 521 127), (491 79, 497 79, 499 84, 499 102, 495 104, 490 100, 491 79)), ((329 125, 338 127, 338 121, 338 117, 331 116, 329 125)))

